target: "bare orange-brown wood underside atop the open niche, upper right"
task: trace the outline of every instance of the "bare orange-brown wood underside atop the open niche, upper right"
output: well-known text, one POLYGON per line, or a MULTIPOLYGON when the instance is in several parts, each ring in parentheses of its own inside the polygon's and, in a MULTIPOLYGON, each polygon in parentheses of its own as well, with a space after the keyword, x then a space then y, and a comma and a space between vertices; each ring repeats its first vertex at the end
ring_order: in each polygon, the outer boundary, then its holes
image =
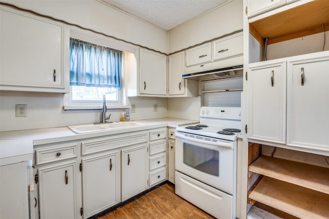
POLYGON ((329 29, 329 1, 315 0, 249 23, 249 32, 264 44, 296 39, 329 29))

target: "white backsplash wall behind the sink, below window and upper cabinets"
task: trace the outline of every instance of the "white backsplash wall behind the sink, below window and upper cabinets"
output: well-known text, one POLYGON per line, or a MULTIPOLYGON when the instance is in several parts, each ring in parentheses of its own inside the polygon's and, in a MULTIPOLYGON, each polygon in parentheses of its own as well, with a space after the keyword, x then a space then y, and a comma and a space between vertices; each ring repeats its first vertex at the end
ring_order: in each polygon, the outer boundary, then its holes
MULTIPOLYGON (((130 98, 136 105, 131 120, 163 118, 168 116, 167 98, 130 98), (153 112, 153 104, 158 111, 153 112)), ((108 110, 110 121, 119 121, 124 109, 108 110)), ((0 131, 41 129, 75 124, 100 122, 101 111, 64 111, 63 95, 50 93, 8 92, 0 93, 0 131), (27 104, 27 117, 15 117, 15 104, 27 104)))

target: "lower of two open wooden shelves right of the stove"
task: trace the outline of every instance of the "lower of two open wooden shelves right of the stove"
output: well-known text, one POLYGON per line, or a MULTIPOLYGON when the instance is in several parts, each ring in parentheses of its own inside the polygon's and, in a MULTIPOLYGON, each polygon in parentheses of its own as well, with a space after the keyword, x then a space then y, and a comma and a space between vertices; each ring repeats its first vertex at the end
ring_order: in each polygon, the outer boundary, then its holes
POLYGON ((329 195, 264 176, 249 198, 300 218, 328 218, 329 195))

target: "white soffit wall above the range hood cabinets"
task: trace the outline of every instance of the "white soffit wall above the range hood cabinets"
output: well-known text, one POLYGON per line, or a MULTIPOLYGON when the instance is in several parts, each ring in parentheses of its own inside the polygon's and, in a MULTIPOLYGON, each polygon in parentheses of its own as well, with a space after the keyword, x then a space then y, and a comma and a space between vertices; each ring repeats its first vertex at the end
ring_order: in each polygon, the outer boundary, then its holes
POLYGON ((169 31, 169 53, 243 29, 243 1, 234 0, 169 31))

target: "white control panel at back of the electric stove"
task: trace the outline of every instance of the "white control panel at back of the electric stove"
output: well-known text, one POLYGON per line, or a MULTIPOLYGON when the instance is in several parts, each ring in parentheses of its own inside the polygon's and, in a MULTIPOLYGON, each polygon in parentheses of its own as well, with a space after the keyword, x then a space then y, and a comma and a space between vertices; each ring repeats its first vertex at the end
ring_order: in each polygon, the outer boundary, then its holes
POLYGON ((200 109, 200 117, 241 120, 241 107, 209 107, 200 109))

